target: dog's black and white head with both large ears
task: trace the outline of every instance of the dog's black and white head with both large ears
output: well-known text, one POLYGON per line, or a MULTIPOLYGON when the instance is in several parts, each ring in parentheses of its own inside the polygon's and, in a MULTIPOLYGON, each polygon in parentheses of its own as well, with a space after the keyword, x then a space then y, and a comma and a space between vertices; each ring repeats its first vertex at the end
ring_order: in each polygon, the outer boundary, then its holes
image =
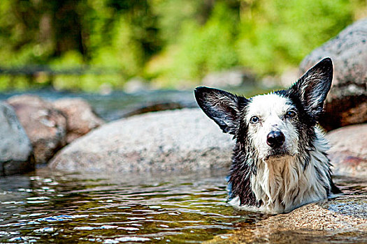
POLYGON ((287 90, 247 99, 201 86, 195 89, 195 97, 223 132, 268 160, 296 155, 301 147, 312 149, 308 141, 315 139, 313 128, 322 114, 332 78, 333 64, 326 58, 287 90))

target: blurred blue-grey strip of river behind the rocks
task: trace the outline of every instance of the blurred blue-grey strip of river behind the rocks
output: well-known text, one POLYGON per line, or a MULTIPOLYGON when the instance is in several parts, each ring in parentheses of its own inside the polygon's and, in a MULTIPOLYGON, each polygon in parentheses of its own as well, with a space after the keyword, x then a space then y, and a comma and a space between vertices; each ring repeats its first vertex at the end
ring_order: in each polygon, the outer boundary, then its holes
MULTIPOLYGON (((264 93, 267 90, 257 86, 243 86, 229 91, 252 96, 257 93, 264 93)), ((29 90, 27 92, 10 91, 0 93, 0 101, 12 96, 28 93, 39 96, 45 100, 53 101, 60 98, 83 98, 92 105, 94 112, 106 121, 113 121, 134 114, 137 110, 154 105, 169 105, 173 107, 197 107, 194 100, 194 89, 186 91, 178 90, 154 90, 138 91, 136 93, 124 93, 123 91, 113 91, 108 95, 99 93, 73 93, 68 91, 54 91, 52 89, 29 90)), ((162 106, 161 106, 162 107, 162 106)), ((164 107, 164 106, 163 106, 164 107)), ((168 106, 170 107, 170 106, 168 106)), ((154 111, 154 108, 151 108, 154 111)))

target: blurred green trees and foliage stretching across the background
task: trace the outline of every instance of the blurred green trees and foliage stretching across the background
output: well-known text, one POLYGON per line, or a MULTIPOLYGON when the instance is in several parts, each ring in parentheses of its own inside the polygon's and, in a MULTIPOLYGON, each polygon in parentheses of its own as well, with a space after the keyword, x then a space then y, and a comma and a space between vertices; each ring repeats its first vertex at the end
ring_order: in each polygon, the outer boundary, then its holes
POLYGON ((366 0, 1 0, 0 90, 190 87, 280 75, 367 16, 366 0))

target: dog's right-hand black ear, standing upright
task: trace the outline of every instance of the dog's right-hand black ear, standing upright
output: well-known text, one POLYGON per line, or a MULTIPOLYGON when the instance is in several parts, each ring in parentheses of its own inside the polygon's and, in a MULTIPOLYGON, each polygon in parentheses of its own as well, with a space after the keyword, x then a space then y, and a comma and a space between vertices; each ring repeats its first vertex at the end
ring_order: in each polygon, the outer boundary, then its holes
POLYGON ((318 119, 322 114, 332 79, 333 62, 330 58, 322 59, 298 79, 289 91, 297 94, 308 113, 318 119))

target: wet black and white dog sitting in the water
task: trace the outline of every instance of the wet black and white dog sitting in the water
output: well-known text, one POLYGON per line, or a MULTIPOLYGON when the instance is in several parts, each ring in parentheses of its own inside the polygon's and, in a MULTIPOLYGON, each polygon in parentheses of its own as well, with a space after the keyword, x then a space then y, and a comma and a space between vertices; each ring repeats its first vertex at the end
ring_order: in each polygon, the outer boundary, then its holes
POLYGON ((231 204, 287 213, 340 190, 331 180, 328 142, 318 127, 333 79, 323 59, 289 89, 245 98, 198 87, 203 112, 233 135, 231 204))

